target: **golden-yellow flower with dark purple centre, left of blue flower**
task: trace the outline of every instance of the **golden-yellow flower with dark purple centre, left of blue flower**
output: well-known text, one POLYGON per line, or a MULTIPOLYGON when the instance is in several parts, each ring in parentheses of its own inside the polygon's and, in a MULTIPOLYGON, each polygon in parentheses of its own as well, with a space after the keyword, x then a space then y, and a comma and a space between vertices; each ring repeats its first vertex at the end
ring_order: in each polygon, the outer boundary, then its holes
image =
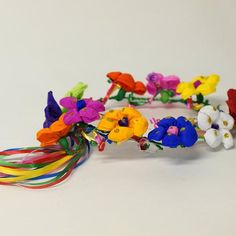
POLYGON ((133 136, 141 137, 147 131, 148 122, 136 109, 125 107, 105 113, 97 128, 110 132, 111 141, 122 142, 133 136))

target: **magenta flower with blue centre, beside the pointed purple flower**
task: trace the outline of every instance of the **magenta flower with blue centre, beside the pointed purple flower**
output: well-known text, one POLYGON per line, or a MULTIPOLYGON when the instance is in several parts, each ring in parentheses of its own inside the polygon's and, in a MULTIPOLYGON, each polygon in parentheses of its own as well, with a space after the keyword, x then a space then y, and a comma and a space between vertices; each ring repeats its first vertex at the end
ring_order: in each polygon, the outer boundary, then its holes
POLYGON ((66 125, 80 121, 91 123, 100 118, 99 112, 105 111, 101 102, 92 99, 78 100, 74 97, 65 97, 60 100, 60 104, 67 109, 63 118, 66 125))

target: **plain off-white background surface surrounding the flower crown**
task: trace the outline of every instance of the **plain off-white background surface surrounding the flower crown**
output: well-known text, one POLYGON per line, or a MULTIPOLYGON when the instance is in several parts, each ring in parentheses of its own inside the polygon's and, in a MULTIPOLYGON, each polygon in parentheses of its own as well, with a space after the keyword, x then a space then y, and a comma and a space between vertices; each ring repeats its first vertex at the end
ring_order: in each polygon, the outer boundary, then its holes
MULTIPOLYGON (((0 148, 38 144, 49 90, 59 99, 83 81, 99 98, 113 70, 143 81, 218 73, 211 100, 224 104, 236 87, 235 10, 235 0, 0 0, 0 148)), ((155 107, 141 111, 188 115, 155 107)), ((235 149, 113 145, 56 188, 1 186, 0 234, 235 236, 235 183, 235 149)))

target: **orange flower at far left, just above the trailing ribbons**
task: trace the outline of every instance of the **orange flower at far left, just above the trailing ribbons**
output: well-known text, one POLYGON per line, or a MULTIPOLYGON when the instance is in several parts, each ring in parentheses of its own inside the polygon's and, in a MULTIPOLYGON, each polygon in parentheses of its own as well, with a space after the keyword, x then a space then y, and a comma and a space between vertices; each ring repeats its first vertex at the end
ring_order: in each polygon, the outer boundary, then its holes
POLYGON ((49 128, 44 128, 38 131, 37 140, 41 142, 41 146, 51 146, 56 144, 59 139, 65 137, 70 129, 70 125, 66 125, 63 121, 64 115, 59 120, 50 125, 49 128))

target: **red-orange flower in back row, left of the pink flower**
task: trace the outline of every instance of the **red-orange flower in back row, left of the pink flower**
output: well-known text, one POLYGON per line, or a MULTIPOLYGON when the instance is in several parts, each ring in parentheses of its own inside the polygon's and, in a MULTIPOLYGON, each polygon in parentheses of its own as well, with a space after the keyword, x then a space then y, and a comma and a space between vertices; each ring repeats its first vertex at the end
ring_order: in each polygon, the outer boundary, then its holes
POLYGON ((126 92, 133 92, 139 95, 143 95, 146 92, 146 87, 141 81, 135 81, 133 76, 128 73, 110 72, 107 77, 112 80, 113 83, 119 85, 126 92))

